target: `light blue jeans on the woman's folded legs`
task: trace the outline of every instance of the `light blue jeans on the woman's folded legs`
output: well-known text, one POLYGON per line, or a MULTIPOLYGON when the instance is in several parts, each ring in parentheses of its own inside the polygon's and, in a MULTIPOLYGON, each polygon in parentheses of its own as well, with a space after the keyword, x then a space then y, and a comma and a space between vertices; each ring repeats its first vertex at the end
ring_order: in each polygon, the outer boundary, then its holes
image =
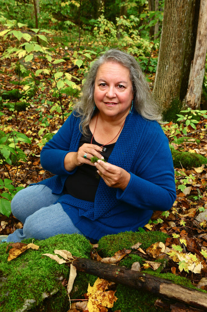
POLYGON ((16 193, 11 201, 12 214, 20 220, 23 229, 10 234, 7 242, 20 242, 25 238, 45 239, 57 234, 82 232, 74 226, 50 188, 42 184, 31 185, 16 193))

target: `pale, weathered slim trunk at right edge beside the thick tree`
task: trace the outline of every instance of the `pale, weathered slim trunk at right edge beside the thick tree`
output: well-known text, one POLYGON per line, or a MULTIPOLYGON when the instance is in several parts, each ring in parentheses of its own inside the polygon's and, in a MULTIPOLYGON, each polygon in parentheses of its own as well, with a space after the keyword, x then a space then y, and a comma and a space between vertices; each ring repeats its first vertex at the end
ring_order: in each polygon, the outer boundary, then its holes
POLYGON ((200 1, 198 30, 195 54, 191 66, 189 85, 184 102, 192 109, 200 108, 202 83, 205 74, 205 57, 207 50, 207 1, 200 1))

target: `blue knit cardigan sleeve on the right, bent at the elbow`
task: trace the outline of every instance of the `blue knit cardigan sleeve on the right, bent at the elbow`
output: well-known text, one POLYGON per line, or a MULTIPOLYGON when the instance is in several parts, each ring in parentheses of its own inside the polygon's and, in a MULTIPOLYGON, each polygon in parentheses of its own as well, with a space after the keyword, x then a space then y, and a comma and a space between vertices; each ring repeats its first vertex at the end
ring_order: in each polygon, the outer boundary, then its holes
POLYGON ((146 154, 143 150, 127 188, 117 189, 117 199, 140 209, 166 211, 176 199, 173 159, 164 134, 156 143, 148 146, 146 154))

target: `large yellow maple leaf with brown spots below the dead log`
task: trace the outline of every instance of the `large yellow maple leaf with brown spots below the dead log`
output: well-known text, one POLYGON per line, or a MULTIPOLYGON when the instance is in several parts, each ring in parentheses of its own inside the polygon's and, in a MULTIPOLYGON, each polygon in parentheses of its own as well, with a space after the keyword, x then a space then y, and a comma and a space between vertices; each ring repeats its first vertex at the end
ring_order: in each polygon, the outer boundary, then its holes
POLYGON ((89 300, 87 306, 89 312, 107 312, 107 307, 113 307, 114 301, 117 301, 117 297, 114 296, 116 290, 105 291, 112 284, 112 282, 98 277, 93 286, 88 285, 87 295, 89 300))

